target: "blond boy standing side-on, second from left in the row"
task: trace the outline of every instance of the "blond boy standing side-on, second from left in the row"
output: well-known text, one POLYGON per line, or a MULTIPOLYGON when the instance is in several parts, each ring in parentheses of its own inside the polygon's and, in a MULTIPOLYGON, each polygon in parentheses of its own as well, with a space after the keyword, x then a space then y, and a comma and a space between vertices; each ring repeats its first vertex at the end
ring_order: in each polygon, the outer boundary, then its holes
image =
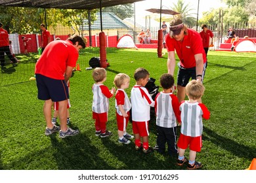
POLYGON ((123 73, 119 73, 114 78, 114 84, 116 85, 116 120, 118 129, 118 142, 123 144, 129 144, 133 139, 133 135, 126 132, 127 124, 130 118, 131 102, 125 89, 129 88, 130 77, 123 73))

